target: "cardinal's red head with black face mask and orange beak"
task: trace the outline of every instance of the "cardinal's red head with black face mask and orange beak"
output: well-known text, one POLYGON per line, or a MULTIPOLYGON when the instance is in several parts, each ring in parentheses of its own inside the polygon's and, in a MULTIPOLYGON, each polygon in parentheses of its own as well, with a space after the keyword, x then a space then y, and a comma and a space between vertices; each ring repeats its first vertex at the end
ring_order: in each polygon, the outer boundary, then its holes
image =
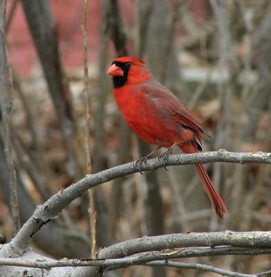
POLYGON ((107 74, 113 76, 114 88, 124 84, 138 84, 151 77, 144 61, 137 57, 118 57, 112 62, 107 74))

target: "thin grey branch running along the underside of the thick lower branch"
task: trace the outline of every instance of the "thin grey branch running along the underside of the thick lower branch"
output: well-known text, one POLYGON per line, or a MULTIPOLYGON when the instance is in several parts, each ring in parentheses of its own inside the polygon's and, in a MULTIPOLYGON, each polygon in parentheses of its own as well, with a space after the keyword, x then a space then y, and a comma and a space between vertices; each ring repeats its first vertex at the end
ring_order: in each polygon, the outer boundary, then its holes
MULTIPOLYGON (((138 253, 133 256, 123 258, 89 259, 89 260, 52 260, 52 259, 27 259, 27 258, 0 258, 0 265, 15 267, 31 267, 39 269, 52 269, 54 267, 107 267, 106 271, 129 267, 131 265, 152 265, 154 261, 168 260, 171 258, 191 258, 203 256, 221 255, 264 255, 270 254, 270 248, 253 247, 191 247, 179 249, 163 249, 160 251, 150 251, 138 253)), ((167 262, 165 262, 166 265, 167 262)), ((154 264, 153 264, 154 265, 154 264)))

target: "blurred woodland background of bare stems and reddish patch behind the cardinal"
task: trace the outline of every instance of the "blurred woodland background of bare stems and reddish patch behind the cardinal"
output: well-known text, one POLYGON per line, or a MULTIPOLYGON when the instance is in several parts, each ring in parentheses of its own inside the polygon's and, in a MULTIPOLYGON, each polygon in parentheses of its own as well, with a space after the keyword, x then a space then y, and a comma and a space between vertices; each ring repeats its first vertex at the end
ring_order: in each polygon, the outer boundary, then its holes
MULTIPOLYGON (((22 223, 36 205, 87 172, 82 15, 80 0, 8 1, 12 147, 22 223)), ((91 172, 136 160, 151 150, 131 134, 113 99, 106 70, 122 55, 146 60, 153 75, 194 111, 212 136, 205 138, 205 151, 270 152, 270 37, 270 0, 89 1, 91 172)), ((0 147, 0 233, 9 241, 8 170, 3 143, 0 147)), ((206 166, 227 204, 224 220, 212 211, 193 166, 137 173, 95 188, 97 247, 142 235, 270 230, 270 165, 206 166)), ((34 236, 33 247, 55 258, 88 257, 87 209, 88 197, 83 195, 34 236)), ((269 269, 271 257, 189 262, 252 274, 269 269)), ((114 274, 210 275, 147 267, 114 274)))

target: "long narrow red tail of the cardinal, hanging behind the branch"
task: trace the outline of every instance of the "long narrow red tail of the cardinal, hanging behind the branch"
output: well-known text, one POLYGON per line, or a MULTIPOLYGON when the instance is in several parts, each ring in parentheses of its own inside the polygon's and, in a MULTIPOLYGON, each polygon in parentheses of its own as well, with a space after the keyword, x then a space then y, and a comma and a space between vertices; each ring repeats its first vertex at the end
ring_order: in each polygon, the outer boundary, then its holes
MULTIPOLYGON (((182 145, 179 145, 180 148, 185 153, 195 153, 198 152, 196 150, 196 147, 194 145, 191 145, 189 143, 185 143, 182 145)), ((214 210, 216 211, 216 215, 218 217, 223 218, 224 213, 226 213, 227 208, 221 199, 221 197, 218 195, 216 189, 214 188, 211 179, 209 178, 209 175, 207 174, 207 171, 205 170, 204 166, 201 163, 195 163, 194 164, 196 171, 198 172, 198 176, 200 177, 201 182, 203 183, 203 186, 205 188, 205 192, 209 196, 209 199, 212 202, 212 205, 214 206, 214 210)))

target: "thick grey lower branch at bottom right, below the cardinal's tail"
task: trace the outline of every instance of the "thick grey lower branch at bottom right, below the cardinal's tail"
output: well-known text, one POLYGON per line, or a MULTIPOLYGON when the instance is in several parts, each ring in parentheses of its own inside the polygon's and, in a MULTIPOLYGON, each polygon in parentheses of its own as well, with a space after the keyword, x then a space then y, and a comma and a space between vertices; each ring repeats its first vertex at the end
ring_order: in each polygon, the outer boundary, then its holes
POLYGON ((122 258, 144 251, 160 251, 180 247, 269 247, 271 250, 271 231, 268 232, 209 232, 176 233, 170 235, 144 236, 127 240, 102 249, 99 258, 122 258))

